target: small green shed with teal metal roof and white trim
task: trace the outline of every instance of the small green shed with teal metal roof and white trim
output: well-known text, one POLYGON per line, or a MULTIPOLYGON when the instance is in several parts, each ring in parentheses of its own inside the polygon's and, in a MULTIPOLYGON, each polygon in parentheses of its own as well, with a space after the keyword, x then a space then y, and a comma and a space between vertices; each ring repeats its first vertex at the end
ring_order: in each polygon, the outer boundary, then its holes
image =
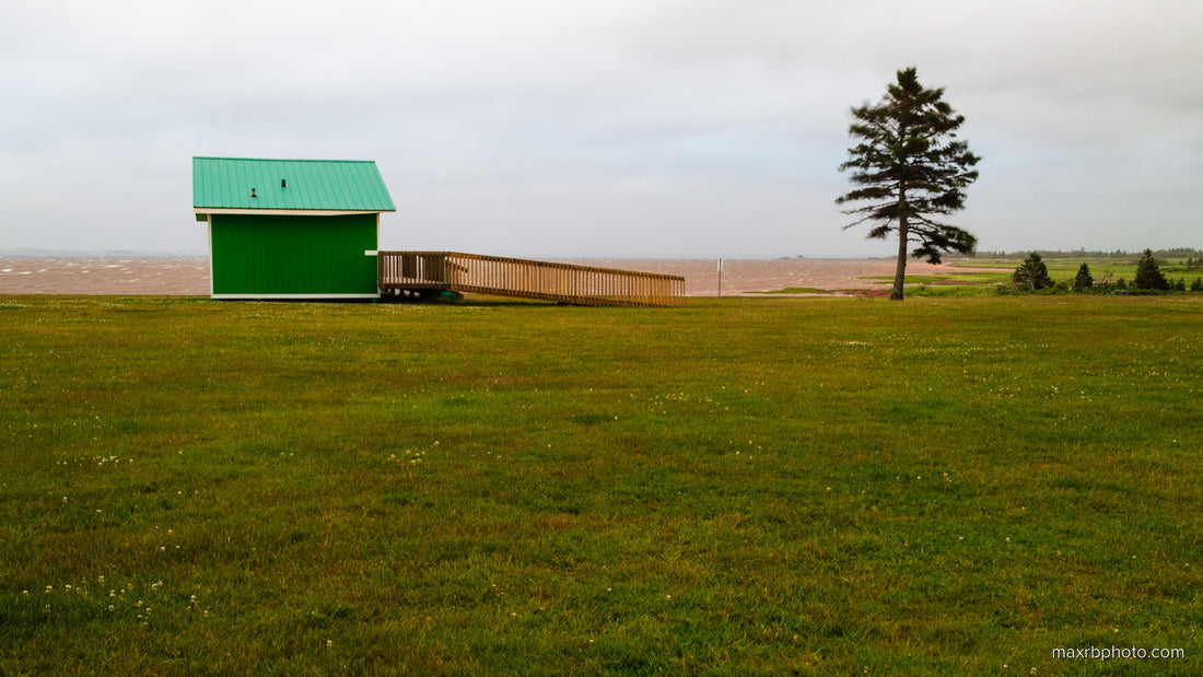
POLYGON ((213 298, 378 298, 375 162, 192 158, 213 298))

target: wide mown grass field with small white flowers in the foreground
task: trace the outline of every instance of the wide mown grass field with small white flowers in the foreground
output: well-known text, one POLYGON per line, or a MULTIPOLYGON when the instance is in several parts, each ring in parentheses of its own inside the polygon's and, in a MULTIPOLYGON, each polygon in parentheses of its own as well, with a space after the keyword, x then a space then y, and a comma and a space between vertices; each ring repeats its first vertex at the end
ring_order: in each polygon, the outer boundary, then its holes
POLYGON ((0 673, 1197 675, 1201 310, 0 298, 0 673))

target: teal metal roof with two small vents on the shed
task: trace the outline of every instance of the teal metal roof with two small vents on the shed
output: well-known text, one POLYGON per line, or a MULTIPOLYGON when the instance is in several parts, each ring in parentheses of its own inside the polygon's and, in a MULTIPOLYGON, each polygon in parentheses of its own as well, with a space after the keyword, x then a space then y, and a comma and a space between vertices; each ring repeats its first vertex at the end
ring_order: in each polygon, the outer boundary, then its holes
POLYGON ((371 160, 192 158, 192 207, 396 212, 371 160))

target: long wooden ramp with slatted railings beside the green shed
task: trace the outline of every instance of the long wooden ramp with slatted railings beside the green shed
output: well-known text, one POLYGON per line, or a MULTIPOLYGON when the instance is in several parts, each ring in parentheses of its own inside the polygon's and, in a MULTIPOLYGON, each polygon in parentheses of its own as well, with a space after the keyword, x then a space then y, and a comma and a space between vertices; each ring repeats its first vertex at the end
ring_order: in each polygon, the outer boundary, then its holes
POLYGON ((440 291, 537 298, 577 305, 677 305, 685 278, 456 251, 380 251, 384 296, 440 291))

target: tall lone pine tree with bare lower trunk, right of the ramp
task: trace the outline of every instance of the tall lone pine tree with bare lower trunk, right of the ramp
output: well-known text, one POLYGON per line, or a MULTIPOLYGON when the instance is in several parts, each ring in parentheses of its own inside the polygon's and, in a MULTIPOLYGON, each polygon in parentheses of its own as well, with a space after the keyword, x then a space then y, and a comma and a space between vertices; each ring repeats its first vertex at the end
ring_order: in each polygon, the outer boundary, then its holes
POLYGON ((869 237, 885 239, 897 233, 897 267, 890 298, 902 299, 909 254, 940 263, 941 254, 970 254, 977 238, 968 231, 937 221, 965 208, 965 188, 977 180, 973 167, 980 158, 968 143, 956 141, 964 115, 953 112, 944 90, 919 84, 914 67, 897 72, 897 82, 887 88, 877 105, 852 109, 855 121, 848 133, 859 143, 848 149, 840 171, 852 170, 849 180, 858 186, 836 200, 836 204, 867 202, 845 213, 860 216, 851 228, 869 222, 869 237))

